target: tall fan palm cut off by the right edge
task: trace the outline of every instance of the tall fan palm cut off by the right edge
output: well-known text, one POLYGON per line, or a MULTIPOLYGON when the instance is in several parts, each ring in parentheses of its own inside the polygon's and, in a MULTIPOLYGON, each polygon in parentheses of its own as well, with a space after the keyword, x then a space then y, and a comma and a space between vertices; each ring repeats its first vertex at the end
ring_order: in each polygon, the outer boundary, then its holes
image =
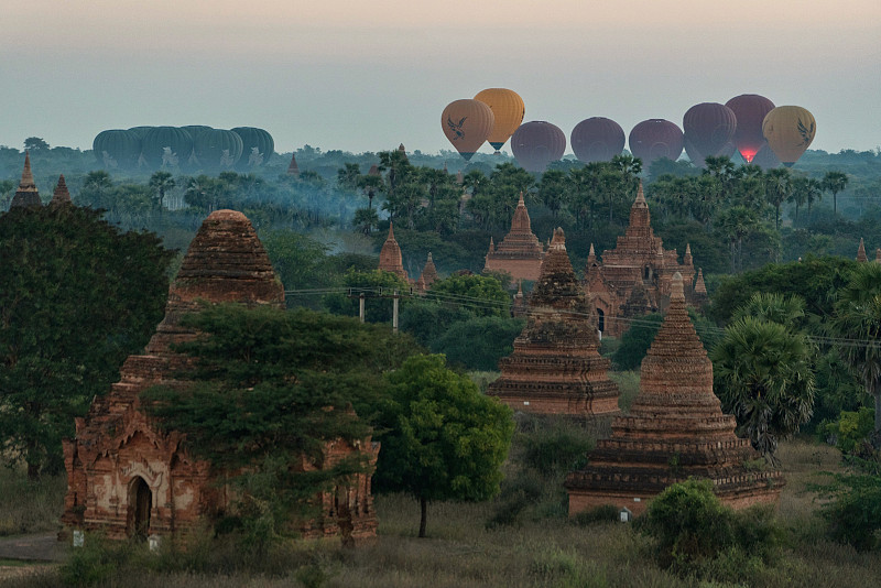
POLYGON ((875 447, 881 446, 881 265, 860 263, 838 291, 829 333, 841 358, 874 396, 875 447))

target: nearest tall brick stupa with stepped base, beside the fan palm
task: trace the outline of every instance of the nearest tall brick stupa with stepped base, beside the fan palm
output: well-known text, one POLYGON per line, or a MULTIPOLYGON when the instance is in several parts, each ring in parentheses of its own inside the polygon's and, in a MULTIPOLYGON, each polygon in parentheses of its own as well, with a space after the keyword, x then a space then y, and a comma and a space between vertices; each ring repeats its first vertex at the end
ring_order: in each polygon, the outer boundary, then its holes
POLYGON ((713 392, 713 363, 685 308, 682 276, 671 280, 670 309, 642 361, 640 392, 630 414, 612 421, 612 434, 588 454, 588 465, 566 477, 569 514, 605 504, 640 514, 667 486, 708 478, 733 508, 773 503, 780 471, 757 471, 748 439, 735 435, 713 392))

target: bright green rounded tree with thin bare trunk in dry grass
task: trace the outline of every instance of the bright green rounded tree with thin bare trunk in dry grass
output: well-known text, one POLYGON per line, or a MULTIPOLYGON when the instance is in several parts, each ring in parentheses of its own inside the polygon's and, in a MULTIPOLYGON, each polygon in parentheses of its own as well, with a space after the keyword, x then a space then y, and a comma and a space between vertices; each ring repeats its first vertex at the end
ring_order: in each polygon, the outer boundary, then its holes
POLYGON ((414 356, 388 373, 389 398, 379 417, 387 433, 380 437, 377 489, 420 501, 420 537, 428 502, 499 493, 514 431, 511 409, 445 364, 444 356, 414 356))

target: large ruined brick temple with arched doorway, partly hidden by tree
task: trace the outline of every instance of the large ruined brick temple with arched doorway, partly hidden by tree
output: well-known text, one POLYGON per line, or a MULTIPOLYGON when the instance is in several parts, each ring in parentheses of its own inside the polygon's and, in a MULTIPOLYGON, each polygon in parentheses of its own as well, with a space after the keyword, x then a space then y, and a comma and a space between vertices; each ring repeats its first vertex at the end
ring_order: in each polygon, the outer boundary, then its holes
MULTIPOLYGON (((163 433, 140 407, 139 394, 153 385, 183 385, 194 366, 171 346, 198 334, 181 325, 200 301, 284 308, 284 288, 250 221, 241 213, 218 210, 199 228, 168 290, 165 318, 143 355, 130 356, 120 381, 96 396, 76 420, 76 436, 64 440, 67 494, 62 522, 67 530, 102 531, 110 538, 186 533, 222 513, 235 497, 217 483, 209 464, 183 447, 184 436, 163 433)), ((376 464, 370 437, 354 445, 326 445, 322 459, 297 469, 335 464, 354 453, 376 464)), ((305 536, 345 534, 347 541, 376 535, 370 473, 315 497, 320 514, 304 524, 305 536)))

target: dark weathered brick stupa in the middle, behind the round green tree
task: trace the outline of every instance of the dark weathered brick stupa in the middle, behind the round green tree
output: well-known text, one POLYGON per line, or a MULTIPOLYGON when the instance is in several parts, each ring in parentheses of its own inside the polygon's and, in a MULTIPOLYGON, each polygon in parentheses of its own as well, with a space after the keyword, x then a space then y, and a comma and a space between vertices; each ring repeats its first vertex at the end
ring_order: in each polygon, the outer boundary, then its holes
POLYGON ((526 326, 514 339, 514 351, 499 361, 501 375, 487 394, 515 411, 616 414, 618 386, 609 380, 610 361, 598 347, 597 326, 569 262, 563 229, 556 229, 529 297, 526 326))

